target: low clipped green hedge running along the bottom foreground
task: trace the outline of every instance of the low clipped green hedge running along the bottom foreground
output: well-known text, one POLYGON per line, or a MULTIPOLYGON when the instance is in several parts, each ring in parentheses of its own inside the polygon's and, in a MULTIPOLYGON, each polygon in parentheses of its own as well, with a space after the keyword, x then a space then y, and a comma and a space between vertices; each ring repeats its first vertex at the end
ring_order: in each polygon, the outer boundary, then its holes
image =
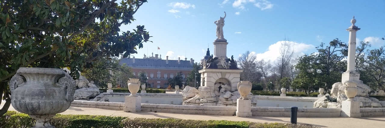
MULTIPOLYGON (((256 123, 226 120, 181 120, 110 117, 100 115, 60 115, 51 118, 56 128, 319 128, 312 125, 256 123)), ((8 111, 0 116, 0 128, 30 128, 35 120, 27 114, 8 111)))

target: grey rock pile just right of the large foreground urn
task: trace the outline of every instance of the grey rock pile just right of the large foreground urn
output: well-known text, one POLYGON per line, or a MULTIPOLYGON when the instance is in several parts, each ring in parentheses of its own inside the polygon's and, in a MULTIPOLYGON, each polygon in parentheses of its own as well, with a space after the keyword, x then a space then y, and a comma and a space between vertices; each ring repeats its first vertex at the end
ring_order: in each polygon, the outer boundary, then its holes
POLYGON ((75 100, 90 100, 90 101, 101 101, 108 102, 108 98, 100 95, 99 88, 93 83, 89 82, 84 76, 80 75, 79 79, 75 80, 75 100))

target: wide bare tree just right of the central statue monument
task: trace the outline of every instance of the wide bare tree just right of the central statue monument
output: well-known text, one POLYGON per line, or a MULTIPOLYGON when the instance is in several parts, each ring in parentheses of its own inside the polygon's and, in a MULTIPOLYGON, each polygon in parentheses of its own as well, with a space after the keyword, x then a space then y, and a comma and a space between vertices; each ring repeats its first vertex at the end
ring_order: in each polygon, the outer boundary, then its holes
POLYGON ((261 79, 261 73, 257 71, 257 57, 250 54, 250 51, 246 51, 239 56, 238 66, 244 71, 241 73, 241 79, 251 82, 259 82, 261 79))

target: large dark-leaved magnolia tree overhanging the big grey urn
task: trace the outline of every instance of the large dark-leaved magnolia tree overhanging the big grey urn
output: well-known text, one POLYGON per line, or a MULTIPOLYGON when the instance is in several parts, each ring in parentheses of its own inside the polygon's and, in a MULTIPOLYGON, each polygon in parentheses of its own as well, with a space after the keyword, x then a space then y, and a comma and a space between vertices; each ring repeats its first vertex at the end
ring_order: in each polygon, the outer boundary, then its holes
MULTIPOLYGON (((70 75, 100 57, 129 57, 151 37, 144 26, 121 31, 147 0, 1 0, 0 95, 20 67, 70 67, 70 75)), ((1 103, 2 100, 0 100, 1 103)))

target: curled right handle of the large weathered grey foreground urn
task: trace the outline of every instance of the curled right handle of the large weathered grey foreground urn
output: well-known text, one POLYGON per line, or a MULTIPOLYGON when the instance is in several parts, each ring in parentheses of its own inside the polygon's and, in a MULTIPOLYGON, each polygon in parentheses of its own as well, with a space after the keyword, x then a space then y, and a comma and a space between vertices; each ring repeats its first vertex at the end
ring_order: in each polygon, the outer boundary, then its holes
POLYGON ((67 101, 72 102, 75 100, 74 94, 75 94, 75 80, 70 77, 69 74, 65 74, 64 77, 59 79, 59 85, 62 87, 62 89, 65 90, 66 96, 65 98, 67 101))

